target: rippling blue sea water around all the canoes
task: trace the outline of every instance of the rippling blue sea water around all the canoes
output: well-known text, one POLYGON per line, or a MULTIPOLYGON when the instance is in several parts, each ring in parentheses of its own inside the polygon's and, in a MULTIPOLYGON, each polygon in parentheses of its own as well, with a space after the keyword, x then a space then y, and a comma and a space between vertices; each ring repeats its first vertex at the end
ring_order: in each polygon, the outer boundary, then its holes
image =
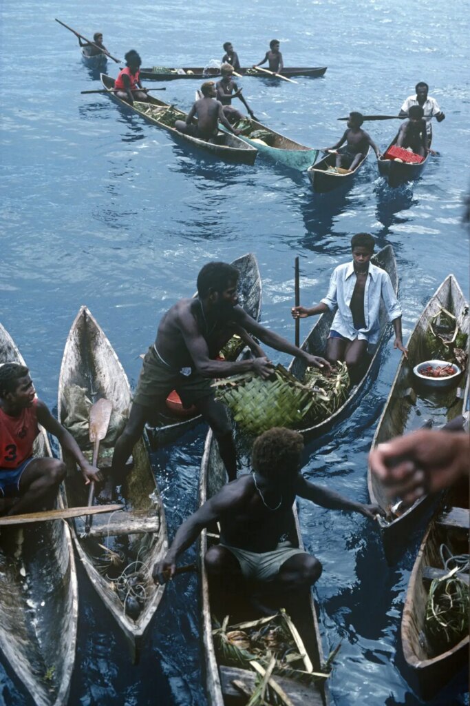
MULTIPOLYGON (((194 292, 199 268, 247 251, 259 259, 263 322, 293 338, 293 265, 301 260, 302 303, 318 301, 330 272, 348 258, 355 232, 392 244, 400 273, 404 337, 423 304, 452 272, 469 289, 469 2, 443 0, 182 0, 110 6, 82 0, 4 0, 1 8, 0 321, 30 365, 39 395, 54 409, 63 345, 80 304, 97 317, 130 377, 153 340, 161 314, 194 292), (312 193, 305 174, 261 159, 221 164, 178 145, 107 97, 80 63, 75 37, 104 32, 120 58, 136 48, 147 66, 202 65, 221 59, 230 40, 242 64, 259 61, 271 38, 285 64, 328 66, 299 85, 244 79, 262 122, 312 147, 333 144, 358 109, 397 113, 417 80, 447 115, 434 127, 420 181, 391 191, 369 157, 354 186, 312 193), (8 79, 10 76, 10 79, 8 79)), ((117 75, 118 64, 109 64, 117 75)), ((156 95, 189 108, 192 81, 156 95)), ((366 126, 382 149, 397 121, 366 126)), ((302 323, 302 335, 309 323, 302 323)), ((273 352, 273 360, 288 362, 273 352)), ((319 448, 305 472, 366 501, 366 455, 398 363, 390 342, 361 405, 319 448)), ((194 510, 204 426, 154 457, 169 530, 194 510)), ((406 681, 397 642, 404 594, 420 532, 393 568, 370 522, 301 503, 307 548, 323 562, 316 587, 325 652, 342 640, 330 681, 336 706, 421 704, 406 681)), ((188 552, 188 555, 194 551, 188 552)), ((80 572, 78 655, 70 705, 203 706, 197 578, 168 587, 140 666, 128 663, 122 635, 80 572)), ((467 703, 462 676, 433 705, 467 703)), ((0 666, 0 702, 27 703, 0 666)))

